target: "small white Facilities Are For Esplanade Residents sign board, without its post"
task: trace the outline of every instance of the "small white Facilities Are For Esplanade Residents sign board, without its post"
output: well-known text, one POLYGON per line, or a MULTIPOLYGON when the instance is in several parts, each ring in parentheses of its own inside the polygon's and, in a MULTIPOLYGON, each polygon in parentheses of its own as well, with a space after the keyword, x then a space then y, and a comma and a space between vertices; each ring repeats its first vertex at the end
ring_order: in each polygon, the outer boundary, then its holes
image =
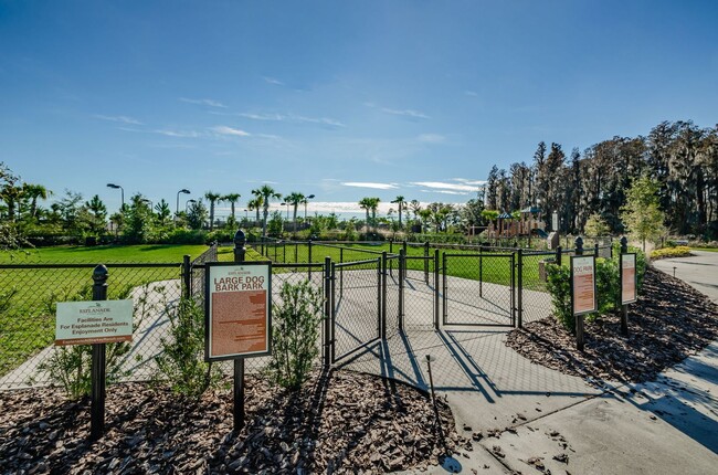
POLYGON ((59 302, 55 345, 133 340, 133 300, 59 302))

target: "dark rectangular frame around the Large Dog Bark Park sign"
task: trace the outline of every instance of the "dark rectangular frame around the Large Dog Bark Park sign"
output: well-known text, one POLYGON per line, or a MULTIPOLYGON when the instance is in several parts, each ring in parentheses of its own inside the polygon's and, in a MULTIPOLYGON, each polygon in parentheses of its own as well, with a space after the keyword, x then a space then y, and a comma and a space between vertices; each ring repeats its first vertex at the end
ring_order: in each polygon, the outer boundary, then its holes
MULTIPOLYGON (((255 271, 255 274, 257 273, 255 271)), ((235 292, 250 292, 252 289, 242 289, 235 292)), ((220 293, 230 293, 224 291, 220 293)), ((236 360, 243 358, 265 357, 272 355, 272 263, 266 261, 256 262, 208 262, 204 264, 204 361, 225 361, 236 360), (234 267, 239 272, 246 272, 245 267, 260 267, 258 273, 265 276, 265 285, 263 291, 266 292, 264 315, 265 321, 265 346, 261 351, 237 351, 225 355, 212 355, 211 341, 213 336, 213 318, 212 318, 212 278, 215 276, 217 271, 225 271, 228 267, 234 267), (214 272, 213 272, 214 271, 214 272)))

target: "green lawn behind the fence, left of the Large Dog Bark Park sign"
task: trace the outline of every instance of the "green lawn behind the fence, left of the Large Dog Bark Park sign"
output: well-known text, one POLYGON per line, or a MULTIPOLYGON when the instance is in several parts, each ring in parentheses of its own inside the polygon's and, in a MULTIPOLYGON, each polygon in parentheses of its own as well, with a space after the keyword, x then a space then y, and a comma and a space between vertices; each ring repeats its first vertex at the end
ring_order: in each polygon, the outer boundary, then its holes
MULTIPOLYGON (((133 245, 41 247, 12 255, 0 264, 106 264, 108 298, 125 298, 149 282, 177 279, 182 256, 192 258, 205 245, 133 245), (113 267, 113 263, 175 263, 171 267, 113 267)), ((0 374, 22 363, 54 339, 55 303, 89 299, 93 266, 83 268, 0 268, 0 374)))

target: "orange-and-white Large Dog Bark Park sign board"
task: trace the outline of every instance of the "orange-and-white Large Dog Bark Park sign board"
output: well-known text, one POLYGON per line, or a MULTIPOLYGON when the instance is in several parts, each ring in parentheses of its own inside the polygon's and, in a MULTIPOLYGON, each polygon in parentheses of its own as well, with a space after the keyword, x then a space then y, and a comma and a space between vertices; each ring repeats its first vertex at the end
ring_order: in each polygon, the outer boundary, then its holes
POLYGON ((272 265, 205 264, 204 359, 267 356, 272 339, 272 265))

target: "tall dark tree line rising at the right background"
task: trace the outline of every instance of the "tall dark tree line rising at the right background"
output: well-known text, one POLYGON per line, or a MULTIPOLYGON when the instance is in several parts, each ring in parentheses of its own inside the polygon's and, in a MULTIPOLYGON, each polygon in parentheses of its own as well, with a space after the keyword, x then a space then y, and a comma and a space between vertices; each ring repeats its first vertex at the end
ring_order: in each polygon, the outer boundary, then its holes
POLYGON ((539 208, 547 224, 558 212, 561 231, 571 233, 583 233, 598 214, 622 233, 626 191, 640 177, 655 180, 671 232, 718 238, 718 125, 690 120, 663 122, 645 137, 616 136, 568 157, 560 144, 541 141, 530 165, 494 166, 479 200, 488 210, 539 208))

